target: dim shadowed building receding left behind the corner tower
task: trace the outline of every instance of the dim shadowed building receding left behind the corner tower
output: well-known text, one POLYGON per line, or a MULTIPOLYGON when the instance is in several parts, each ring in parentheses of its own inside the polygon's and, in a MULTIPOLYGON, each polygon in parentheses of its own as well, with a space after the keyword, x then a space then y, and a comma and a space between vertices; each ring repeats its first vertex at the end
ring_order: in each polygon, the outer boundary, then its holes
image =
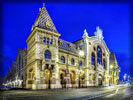
POLYGON ((6 86, 23 88, 24 66, 26 66, 26 49, 18 49, 16 61, 12 61, 6 75, 6 86))

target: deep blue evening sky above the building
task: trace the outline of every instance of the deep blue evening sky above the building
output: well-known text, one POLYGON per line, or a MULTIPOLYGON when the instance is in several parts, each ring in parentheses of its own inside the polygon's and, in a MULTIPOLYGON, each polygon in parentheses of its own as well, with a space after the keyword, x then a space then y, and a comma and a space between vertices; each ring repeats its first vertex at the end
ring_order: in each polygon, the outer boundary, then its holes
MULTIPOLYGON (((5 76, 11 61, 15 61, 18 48, 24 49, 25 40, 43 3, 5 3, 3 5, 5 76)), ((129 74, 130 5, 126 3, 49 3, 50 14, 62 39, 72 42, 80 39, 86 28, 93 35, 96 26, 103 30, 104 40, 121 67, 120 77, 129 74)))

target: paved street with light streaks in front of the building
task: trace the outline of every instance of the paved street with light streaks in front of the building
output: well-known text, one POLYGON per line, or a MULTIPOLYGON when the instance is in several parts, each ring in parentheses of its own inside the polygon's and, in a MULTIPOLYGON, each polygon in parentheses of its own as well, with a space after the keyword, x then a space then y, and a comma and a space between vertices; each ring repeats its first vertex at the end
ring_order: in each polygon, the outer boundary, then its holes
POLYGON ((0 100, 133 100, 133 87, 0 91, 0 100))

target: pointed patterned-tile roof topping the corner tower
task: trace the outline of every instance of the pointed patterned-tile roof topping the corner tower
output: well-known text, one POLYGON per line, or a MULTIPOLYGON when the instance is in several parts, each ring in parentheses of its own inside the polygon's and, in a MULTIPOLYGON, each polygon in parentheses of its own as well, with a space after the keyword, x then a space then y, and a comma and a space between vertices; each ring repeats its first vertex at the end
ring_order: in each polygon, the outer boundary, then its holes
POLYGON ((39 28, 43 28, 43 29, 58 33, 51 17, 48 14, 48 11, 46 10, 45 3, 43 3, 42 9, 39 8, 39 14, 34 23, 34 27, 39 27, 39 28))

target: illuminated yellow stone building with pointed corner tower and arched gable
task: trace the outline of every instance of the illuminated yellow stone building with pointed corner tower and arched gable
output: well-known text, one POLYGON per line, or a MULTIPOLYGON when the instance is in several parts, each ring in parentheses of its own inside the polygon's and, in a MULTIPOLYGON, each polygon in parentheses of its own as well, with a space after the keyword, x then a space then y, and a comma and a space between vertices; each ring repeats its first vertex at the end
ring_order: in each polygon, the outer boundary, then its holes
POLYGON ((72 43, 59 39, 60 36, 43 6, 26 40, 27 53, 21 71, 23 87, 108 86, 112 78, 110 52, 102 30, 97 27, 93 36, 84 30, 82 38, 72 43))

